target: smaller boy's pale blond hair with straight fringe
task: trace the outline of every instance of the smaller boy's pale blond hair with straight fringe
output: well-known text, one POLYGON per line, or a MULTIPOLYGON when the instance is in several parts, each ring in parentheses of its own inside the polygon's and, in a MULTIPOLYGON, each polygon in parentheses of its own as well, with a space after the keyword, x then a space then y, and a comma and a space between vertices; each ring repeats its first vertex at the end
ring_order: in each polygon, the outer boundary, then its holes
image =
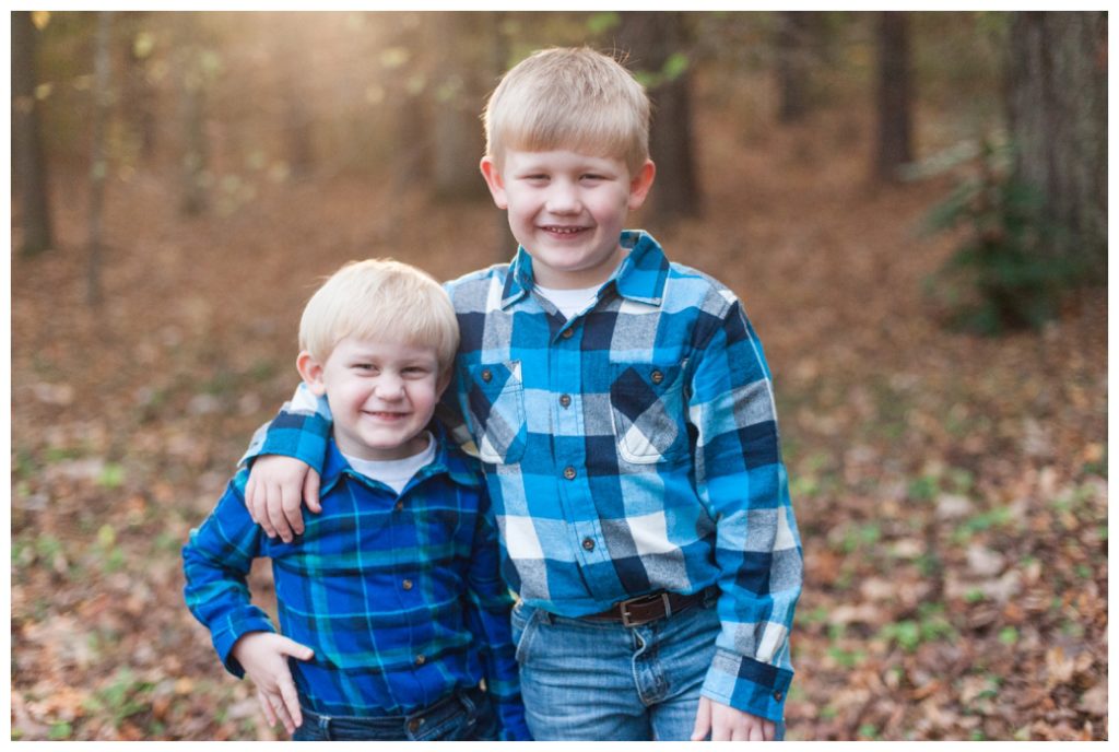
POLYGON ((392 258, 369 258, 335 272, 311 295, 299 322, 299 347, 319 363, 346 337, 431 347, 445 373, 459 348, 459 321, 430 274, 392 258))

